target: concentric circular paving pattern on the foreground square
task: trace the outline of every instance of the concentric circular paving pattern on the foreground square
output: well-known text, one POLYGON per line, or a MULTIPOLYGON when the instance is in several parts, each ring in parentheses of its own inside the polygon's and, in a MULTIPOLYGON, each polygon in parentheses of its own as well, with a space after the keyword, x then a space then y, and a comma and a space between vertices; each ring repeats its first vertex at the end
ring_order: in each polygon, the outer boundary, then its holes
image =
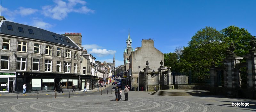
POLYGON ((78 101, 2 101, 4 112, 209 112, 214 108, 190 101, 141 98, 128 101, 78 100, 78 101))

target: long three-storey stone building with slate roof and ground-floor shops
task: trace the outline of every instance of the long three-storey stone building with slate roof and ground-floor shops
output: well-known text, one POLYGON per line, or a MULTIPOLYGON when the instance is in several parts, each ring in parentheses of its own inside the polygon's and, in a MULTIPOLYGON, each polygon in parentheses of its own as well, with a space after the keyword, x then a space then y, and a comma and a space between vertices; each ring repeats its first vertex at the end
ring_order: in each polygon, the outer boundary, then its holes
POLYGON ((34 26, 0 22, 0 91, 52 92, 78 88, 81 48, 68 36, 34 26))

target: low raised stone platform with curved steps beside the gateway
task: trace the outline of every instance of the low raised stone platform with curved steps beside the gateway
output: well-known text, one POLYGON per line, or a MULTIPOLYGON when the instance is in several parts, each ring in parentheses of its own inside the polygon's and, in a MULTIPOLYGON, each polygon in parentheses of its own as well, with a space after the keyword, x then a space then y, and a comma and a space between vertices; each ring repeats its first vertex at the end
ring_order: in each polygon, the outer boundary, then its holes
POLYGON ((151 95, 159 96, 200 96, 200 95, 211 95, 209 91, 206 90, 178 90, 178 89, 167 89, 159 90, 149 93, 151 95))

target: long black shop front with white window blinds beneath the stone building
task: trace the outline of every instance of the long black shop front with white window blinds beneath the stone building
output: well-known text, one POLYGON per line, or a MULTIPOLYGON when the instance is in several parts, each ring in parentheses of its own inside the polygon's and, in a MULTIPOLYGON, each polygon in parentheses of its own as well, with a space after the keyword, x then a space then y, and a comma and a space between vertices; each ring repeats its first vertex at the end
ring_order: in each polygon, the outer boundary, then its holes
POLYGON ((17 72, 15 87, 19 93, 25 83, 28 93, 59 91, 60 85, 62 85, 63 91, 68 91, 67 89, 72 89, 72 85, 76 89, 78 88, 78 78, 79 75, 73 74, 17 72))

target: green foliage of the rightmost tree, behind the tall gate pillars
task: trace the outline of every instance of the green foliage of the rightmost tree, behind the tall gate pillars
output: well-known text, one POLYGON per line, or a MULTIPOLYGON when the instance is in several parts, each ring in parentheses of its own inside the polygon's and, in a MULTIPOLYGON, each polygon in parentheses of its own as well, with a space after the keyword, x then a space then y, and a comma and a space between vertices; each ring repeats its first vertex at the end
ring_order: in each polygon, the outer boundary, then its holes
POLYGON ((228 26, 222 29, 221 32, 225 37, 222 41, 226 43, 227 47, 231 42, 235 44, 236 50, 234 52, 237 56, 243 56, 249 53, 249 49, 251 49, 249 41, 252 35, 247 30, 237 26, 228 26))

